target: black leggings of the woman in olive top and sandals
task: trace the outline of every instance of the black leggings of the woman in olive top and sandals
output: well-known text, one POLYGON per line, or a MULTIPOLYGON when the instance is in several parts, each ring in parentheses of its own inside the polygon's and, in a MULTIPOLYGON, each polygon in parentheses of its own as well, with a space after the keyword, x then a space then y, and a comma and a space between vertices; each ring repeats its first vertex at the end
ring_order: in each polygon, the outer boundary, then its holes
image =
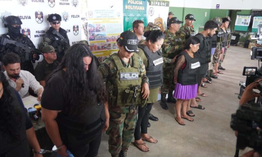
POLYGON ((140 140, 141 134, 147 134, 148 116, 154 103, 147 103, 143 107, 138 107, 138 118, 135 128, 135 140, 140 140), (141 132, 140 132, 141 127, 141 132))

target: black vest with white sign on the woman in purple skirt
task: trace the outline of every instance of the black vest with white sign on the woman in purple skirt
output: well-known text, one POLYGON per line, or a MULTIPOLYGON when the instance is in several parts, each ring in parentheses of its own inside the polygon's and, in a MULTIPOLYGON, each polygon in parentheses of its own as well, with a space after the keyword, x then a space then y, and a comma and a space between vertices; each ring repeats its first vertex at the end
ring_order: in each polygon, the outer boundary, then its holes
POLYGON ((198 82, 200 62, 198 58, 191 58, 185 51, 180 55, 186 58, 186 67, 178 71, 177 82, 182 85, 193 85, 198 82))

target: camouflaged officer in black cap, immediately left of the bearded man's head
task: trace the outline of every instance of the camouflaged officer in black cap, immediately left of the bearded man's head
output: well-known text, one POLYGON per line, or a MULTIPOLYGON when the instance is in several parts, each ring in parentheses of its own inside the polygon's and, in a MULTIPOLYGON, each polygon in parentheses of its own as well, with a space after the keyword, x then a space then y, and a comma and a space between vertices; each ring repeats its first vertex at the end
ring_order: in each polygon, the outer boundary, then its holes
POLYGON ((186 23, 178 31, 178 34, 181 38, 185 38, 187 40, 189 37, 195 36, 195 30, 192 27, 194 21, 196 21, 196 19, 194 18, 194 16, 192 14, 186 15, 186 17, 185 17, 186 23))

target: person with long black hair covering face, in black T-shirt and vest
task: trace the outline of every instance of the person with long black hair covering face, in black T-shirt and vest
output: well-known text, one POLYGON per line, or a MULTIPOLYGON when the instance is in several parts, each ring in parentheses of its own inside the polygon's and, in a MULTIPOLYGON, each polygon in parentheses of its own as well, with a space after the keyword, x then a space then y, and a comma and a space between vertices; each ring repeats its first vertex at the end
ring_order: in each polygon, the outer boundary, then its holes
POLYGON ((51 74, 41 99, 42 120, 60 156, 94 157, 107 130, 107 92, 89 47, 74 44, 51 74))

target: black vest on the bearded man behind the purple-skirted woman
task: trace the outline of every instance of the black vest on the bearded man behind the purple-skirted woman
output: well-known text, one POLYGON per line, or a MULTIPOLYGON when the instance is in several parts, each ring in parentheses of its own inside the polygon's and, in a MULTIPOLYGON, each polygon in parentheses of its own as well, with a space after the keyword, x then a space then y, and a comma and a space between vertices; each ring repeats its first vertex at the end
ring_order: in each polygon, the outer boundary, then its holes
POLYGON ((210 38, 206 38, 203 36, 203 34, 198 33, 196 34, 196 37, 198 37, 198 39, 200 41, 203 41, 204 43, 204 47, 202 50, 198 50, 196 52, 196 56, 198 56, 199 61, 201 64, 206 64, 211 62, 211 48, 212 48, 212 44, 211 44, 211 40, 210 38))

